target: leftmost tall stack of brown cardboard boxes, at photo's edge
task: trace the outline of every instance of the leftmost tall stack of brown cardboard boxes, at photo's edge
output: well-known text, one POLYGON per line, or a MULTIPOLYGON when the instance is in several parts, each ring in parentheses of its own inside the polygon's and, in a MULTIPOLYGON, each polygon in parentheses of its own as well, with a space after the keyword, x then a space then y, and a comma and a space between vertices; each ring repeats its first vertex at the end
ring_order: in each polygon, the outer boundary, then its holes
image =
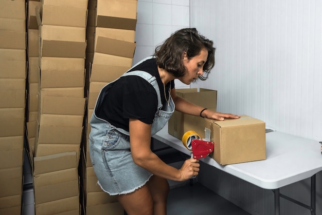
POLYGON ((0 1, 0 214, 20 214, 26 101, 26 6, 0 1))

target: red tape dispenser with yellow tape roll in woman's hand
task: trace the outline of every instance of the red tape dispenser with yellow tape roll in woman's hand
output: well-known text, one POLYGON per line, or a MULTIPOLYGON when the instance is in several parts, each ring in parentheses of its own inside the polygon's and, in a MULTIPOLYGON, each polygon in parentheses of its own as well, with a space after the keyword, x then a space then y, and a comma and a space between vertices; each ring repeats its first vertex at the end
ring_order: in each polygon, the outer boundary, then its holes
POLYGON ((192 158, 201 159, 207 157, 213 151, 213 142, 203 141, 195 131, 187 131, 182 137, 183 145, 192 151, 192 158))

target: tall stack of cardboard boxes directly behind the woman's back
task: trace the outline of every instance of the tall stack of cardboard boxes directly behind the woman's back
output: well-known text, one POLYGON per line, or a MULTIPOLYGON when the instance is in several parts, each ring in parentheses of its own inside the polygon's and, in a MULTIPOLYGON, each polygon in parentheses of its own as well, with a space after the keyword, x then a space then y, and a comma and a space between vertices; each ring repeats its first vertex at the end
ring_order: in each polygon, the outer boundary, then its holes
POLYGON ((86 214, 123 214, 115 197, 102 191, 88 152, 90 119, 103 86, 131 68, 135 50, 137 0, 88 1, 86 86, 86 143, 83 147, 82 180, 86 214))

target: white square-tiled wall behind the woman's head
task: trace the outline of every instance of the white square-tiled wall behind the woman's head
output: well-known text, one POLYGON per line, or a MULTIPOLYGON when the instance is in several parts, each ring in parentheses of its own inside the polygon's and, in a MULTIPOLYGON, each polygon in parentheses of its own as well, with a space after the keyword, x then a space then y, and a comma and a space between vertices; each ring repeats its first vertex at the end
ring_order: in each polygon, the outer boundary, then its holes
MULTIPOLYGON (((189 0, 138 0, 133 63, 154 53, 171 33, 190 26, 189 0)), ((187 88, 175 80, 176 88, 187 88)))

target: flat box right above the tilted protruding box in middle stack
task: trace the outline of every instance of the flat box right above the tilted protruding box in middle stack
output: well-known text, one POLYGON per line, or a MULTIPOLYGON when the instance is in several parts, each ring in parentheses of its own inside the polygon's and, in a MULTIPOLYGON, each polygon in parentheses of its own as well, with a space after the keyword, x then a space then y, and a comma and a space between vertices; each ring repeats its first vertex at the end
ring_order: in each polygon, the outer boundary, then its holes
POLYGON ((64 152, 76 152, 76 157, 79 158, 80 146, 77 144, 38 144, 35 141, 35 157, 47 156, 64 152))

